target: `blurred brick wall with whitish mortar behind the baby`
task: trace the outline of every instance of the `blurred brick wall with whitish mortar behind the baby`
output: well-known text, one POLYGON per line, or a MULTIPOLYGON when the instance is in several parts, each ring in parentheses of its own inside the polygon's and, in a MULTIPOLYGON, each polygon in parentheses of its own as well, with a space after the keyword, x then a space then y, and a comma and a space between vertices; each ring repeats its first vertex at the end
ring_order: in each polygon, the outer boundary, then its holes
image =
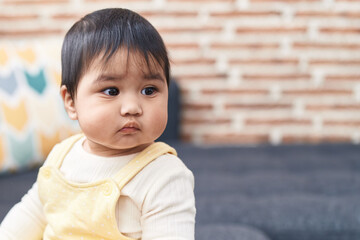
POLYGON ((135 10, 162 34, 183 139, 360 142, 359 0, 0 0, 0 38, 62 39, 104 7, 135 10))

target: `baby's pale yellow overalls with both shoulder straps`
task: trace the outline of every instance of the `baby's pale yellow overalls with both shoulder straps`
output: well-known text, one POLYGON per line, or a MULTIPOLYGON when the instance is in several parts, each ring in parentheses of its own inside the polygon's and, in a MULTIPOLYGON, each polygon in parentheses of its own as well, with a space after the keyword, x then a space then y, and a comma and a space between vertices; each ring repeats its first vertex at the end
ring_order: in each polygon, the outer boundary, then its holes
POLYGON ((115 207, 121 189, 157 157, 176 151, 157 142, 132 159, 112 178, 91 183, 75 183, 60 173, 64 157, 83 135, 75 135, 58 144, 40 168, 38 187, 47 226, 43 240, 131 240, 121 234, 115 207))

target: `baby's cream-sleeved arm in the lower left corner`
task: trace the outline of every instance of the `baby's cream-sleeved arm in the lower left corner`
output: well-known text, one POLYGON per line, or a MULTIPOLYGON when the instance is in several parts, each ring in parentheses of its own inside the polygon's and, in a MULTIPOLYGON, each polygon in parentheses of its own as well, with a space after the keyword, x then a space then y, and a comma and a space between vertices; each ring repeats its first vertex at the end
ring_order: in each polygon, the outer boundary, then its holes
POLYGON ((1 240, 41 240, 45 216, 37 184, 6 215, 0 225, 1 240))

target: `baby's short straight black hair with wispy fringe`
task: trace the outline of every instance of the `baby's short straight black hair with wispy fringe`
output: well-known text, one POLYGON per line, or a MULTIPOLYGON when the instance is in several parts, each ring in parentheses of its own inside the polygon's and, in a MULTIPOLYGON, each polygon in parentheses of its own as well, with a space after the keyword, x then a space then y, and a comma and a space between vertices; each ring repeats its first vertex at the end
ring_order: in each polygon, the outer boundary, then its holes
POLYGON ((142 54, 149 69, 150 61, 155 60, 169 86, 170 63, 160 34, 145 18, 122 8, 92 12, 70 28, 61 50, 61 85, 74 97, 80 78, 92 61, 99 54, 108 61, 120 48, 127 48, 128 54, 142 54))

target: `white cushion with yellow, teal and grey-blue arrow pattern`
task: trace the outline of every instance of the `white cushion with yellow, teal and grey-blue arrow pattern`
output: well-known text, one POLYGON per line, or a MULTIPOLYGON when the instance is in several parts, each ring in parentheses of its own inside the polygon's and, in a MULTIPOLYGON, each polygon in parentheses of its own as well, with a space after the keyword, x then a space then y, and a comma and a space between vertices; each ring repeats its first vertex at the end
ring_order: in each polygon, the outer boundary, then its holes
POLYGON ((0 173, 38 165, 79 131, 59 94, 61 40, 0 41, 0 173))

